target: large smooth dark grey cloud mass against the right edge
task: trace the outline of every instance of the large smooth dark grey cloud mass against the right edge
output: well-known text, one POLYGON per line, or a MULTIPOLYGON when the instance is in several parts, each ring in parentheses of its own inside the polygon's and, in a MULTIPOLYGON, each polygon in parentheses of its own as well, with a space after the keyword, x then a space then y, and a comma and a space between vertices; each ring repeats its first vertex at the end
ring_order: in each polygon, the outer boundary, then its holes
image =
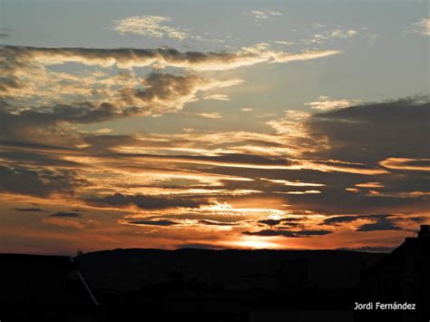
POLYGON ((318 157, 376 165, 390 157, 428 157, 429 119, 429 97, 411 97, 315 114, 308 129, 327 138, 329 149, 318 157))

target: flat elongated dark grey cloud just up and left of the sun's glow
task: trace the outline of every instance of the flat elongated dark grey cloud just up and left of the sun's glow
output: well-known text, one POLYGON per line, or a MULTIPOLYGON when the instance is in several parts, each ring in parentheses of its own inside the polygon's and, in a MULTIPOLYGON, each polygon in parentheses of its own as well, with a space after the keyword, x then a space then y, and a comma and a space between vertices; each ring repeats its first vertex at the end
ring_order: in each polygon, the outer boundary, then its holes
POLYGON ((155 197, 146 195, 123 195, 115 193, 106 197, 92 197, 85 201, 99 207, 126 207, 135 206, 142 210, 162 210, 169 208, 198 208, 208 204, 207 200, 195 200, 192 198, 155 197))

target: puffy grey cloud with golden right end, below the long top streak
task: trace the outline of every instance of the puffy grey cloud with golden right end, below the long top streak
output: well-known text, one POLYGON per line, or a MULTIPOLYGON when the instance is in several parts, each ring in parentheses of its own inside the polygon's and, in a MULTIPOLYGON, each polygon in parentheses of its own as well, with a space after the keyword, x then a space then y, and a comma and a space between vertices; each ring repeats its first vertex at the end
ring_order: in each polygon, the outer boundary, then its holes
MULTIPOLYGON (((5 86, 7 82, 2 84, 5 86)), ((16 109, 14 104, 4 100, 0 102, 0 139, 2 136, 9 139, 28 138, 31 137, 28 132, 41 132, 41 129, 44 132, 61 132, 58 128, 61 130, 64 122, 103 122, 136 114, 176 112, 186 102, 194 101, 199 91, 232 84, 206 80, 197 75, 151 73, 142 79, 144 89, 122 88, 121 97, 104 102, 65 102, 16 109)))

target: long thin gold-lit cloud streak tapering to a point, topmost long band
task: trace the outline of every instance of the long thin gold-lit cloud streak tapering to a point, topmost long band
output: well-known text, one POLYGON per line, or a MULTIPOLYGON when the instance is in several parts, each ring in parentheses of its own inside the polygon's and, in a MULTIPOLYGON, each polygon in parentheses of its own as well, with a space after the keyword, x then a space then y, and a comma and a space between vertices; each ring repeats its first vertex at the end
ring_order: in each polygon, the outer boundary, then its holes
MULTIPOLYGON (((180 52, 172 48, 160 49, 91 49, 91 48, 41 48, 5 45, 0 48, 5 70, 12 72, 29 63, 55 65, 83 63, 86 65, 119 68, 152 66, 186 68, 195 71, 223 71, 257 63, 290 63, 308 61, 340 54, 338 50, 303 51, 290 54, 275 51, 269 44, 255 44, 230 52, 180 52)), ((11 87, 13 84, 11 84, 11 87)))

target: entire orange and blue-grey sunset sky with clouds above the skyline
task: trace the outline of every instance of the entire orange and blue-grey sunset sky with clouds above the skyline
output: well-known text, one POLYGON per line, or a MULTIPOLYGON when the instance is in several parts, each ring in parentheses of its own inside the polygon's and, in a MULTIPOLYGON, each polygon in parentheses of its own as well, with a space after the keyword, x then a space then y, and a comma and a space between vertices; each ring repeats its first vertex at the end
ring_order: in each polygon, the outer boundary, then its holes
POLYGON ((0 251, 396 247, 428 4, 0 0, 0 251))

